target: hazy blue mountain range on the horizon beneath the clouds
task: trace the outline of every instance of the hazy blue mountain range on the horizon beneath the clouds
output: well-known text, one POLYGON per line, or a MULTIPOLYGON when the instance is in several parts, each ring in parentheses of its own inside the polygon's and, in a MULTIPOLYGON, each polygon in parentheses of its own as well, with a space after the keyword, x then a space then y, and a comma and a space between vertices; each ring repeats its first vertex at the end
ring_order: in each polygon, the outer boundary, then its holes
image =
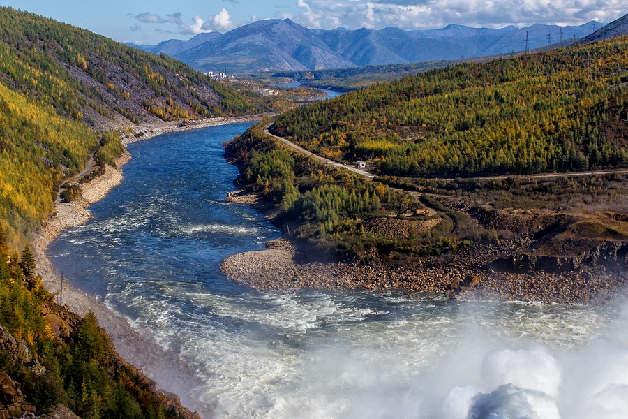
POLYGON ((188 41, 127 45, 166 54, 198 71, 320 70, 486 57, 572 42, 599 29, 599 22, 558 27, 533 24, 502 29, 449 24, 441 29, 307 29, 286 20, 260 20, 225 34, 188 41), (527 45, 525 40, 528 40, 527 45))

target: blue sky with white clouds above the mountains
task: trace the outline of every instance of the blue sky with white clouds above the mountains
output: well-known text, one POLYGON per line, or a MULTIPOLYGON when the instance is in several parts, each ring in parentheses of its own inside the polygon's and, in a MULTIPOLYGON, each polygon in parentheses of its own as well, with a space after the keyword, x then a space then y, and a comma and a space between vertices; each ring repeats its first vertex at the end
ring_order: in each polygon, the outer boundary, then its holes
POLYGON ((117 41, 156 44, 207 31, 226 32, 262 19, 290 18, 304 27, 433 29, 449 23, 518 27, 534 23, 611 22, 625 0, 0 0, 117 41))

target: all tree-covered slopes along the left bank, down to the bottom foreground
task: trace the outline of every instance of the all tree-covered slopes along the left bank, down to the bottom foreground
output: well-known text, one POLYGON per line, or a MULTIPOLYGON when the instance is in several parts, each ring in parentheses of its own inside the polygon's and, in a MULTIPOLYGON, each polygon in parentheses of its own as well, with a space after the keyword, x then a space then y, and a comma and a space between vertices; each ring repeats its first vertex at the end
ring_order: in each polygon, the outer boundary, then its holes
POLYGON ((28 241, 54 213, 64 180, 90 158, 89 176, 114 165, 124 150, 116 130, 255 110, 178 61, 0 8, 0 374, 3 388, 21 391, 3 398, 3 415, 62 403, 82 418, 189 416, 119 358, 94 314, 55 304, 28 241))

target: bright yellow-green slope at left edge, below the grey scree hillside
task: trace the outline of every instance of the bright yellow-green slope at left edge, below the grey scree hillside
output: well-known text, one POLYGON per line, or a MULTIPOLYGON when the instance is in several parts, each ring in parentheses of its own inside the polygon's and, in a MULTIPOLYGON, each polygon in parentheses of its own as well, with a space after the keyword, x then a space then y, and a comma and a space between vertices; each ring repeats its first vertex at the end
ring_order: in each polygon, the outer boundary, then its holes
POLYGON ((0 220, 10 242, 54 210, 56 186, 78 172, 97 145, 91 129, 0 84, 0 220))

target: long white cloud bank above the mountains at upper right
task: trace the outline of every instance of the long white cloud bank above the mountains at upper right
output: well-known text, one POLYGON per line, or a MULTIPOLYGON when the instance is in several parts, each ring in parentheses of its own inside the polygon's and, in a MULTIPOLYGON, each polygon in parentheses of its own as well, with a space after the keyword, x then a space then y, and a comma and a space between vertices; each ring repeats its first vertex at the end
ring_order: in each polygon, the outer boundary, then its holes
POLYGON ((611 22, 625 0, 297 0, 297 13, 282 17, 311 28, 401 27, 428 29, 449 23, 472 27, 533 23, 611 22))

